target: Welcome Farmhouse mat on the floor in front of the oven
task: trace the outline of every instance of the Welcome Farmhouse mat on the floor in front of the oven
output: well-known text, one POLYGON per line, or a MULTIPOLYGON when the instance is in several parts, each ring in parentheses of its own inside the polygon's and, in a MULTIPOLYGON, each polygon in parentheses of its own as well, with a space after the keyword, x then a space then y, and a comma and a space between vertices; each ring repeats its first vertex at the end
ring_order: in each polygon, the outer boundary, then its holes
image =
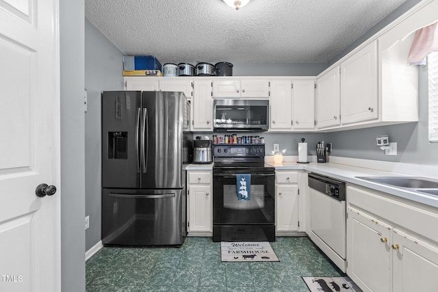
POLYGON ((279 262, 268 241, 220 243, 222 262, 279 262))

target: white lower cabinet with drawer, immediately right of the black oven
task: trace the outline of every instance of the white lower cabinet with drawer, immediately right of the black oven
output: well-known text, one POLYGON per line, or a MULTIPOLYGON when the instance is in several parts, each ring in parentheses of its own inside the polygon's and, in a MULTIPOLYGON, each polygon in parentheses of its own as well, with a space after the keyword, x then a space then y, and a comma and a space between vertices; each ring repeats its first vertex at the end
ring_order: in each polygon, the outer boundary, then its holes
POLYGON ((277 235, 298 231, 298 172, 275 172, 275 229, 277 235))

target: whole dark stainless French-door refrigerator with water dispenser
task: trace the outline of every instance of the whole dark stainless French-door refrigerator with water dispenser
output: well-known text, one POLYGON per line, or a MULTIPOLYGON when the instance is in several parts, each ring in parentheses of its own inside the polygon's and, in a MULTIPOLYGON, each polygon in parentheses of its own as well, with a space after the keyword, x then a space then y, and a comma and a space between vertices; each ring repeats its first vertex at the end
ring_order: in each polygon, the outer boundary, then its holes
POLYGON ((103 92, 103 244, 183 243, 189 116, 182 92, 103 92))

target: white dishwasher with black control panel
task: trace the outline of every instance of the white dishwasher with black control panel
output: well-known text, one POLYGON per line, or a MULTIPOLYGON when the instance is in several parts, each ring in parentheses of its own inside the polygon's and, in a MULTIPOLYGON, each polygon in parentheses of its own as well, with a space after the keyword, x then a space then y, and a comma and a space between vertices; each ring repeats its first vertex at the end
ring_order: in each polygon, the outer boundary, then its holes
POLYGON ((346 272, 346 187, 343 181, 309 174, 310 239, 346 272))

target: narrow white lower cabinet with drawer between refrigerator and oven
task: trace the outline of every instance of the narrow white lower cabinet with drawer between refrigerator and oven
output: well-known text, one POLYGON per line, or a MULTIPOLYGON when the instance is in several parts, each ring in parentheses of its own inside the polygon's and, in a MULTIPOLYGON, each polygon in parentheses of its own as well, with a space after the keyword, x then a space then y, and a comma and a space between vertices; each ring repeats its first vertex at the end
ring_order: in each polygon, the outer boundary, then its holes
POLYGON ((211 170, 188 171, 188 233, 207 235, 213 233, 213 193, 211 170))

